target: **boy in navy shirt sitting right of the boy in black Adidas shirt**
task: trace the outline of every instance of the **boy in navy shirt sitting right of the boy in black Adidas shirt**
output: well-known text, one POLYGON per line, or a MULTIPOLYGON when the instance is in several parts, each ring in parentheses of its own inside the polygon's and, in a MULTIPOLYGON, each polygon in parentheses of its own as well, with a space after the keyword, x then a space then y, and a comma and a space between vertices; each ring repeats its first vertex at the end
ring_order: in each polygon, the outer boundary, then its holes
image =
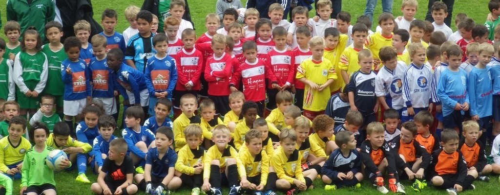
POLYGON ((169 190, 180 187, 182 181, 174 176, 177 154, 170 148, 173 132, 169 127, 160 127, 156 131, 156 147, 149 149, 146 155, 144 174, 136 174, 135 183, 139 190, 147 194, 168 195, 169 190))

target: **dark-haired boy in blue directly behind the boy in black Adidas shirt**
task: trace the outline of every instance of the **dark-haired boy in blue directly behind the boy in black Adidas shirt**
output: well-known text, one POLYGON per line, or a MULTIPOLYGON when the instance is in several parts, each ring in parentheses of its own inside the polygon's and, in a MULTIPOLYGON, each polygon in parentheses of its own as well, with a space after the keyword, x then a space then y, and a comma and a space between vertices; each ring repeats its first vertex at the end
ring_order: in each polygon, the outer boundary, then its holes
POLYGON ((100 169, 102 169, 102 159, 107 158, 109 142, 117 138, 113 135, 114 129, 116 128, 116 121, 112 116, 100 116, 99 120, 97 120, 97 126, 99 127, 99 135, 93 140, 92 151, 89 154, 90 157, 92 157, 90 166, 94 173, 99 173, 100 169))

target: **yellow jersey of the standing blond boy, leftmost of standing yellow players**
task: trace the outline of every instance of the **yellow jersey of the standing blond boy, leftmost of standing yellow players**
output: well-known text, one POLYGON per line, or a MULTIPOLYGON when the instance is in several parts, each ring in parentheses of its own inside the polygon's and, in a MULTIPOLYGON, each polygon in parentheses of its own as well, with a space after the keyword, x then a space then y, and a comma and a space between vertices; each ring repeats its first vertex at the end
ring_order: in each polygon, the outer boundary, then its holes
MULTIPOLYGON (((305 78, 320 86, 329 79, 336 80, 337 75, 335 74, 333 65, 324 57, 321 59, 321 62, 314 62, 312 58, 307 58, 298 66, 296 78, 305 78)), ((311 89, 309 85, 305 85, 302 108, 310 111, 324 110, 329 98, 329 88, 318 91, 311 89)))

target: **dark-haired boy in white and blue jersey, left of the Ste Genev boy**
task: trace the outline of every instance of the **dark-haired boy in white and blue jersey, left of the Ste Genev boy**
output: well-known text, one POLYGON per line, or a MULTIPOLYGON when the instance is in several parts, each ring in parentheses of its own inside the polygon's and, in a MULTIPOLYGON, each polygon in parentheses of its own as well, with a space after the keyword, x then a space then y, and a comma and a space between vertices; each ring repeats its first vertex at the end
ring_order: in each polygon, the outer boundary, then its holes
MULTIPOLYGON (((401 113, 403 108, 402 82, 406 65, 397 61, 397 52, 392 47, 382 47, 378 53, 383 67, 375 77, 375 95, 383 110, 396 109, 401 113)), ((383 115, 383 111, 381 113, 383 115)))

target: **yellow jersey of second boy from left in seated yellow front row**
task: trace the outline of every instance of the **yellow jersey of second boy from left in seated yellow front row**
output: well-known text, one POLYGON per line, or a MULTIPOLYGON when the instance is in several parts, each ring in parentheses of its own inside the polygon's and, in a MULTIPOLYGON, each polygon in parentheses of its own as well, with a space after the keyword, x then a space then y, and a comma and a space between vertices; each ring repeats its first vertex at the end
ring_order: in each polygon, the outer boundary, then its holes
POLYGON ((219 160, 219 171, 220 173, 224 172, 226 166, 225 161, 227 158, 233 158, 236 160, 238 177, 246 177, 245 168, 243 167, 243 164, 241 164, 238 152, 236 152, 236 150, 232 146, 226 145, 224 150, 220 152, 217 146, 213 145, 206 151, 205 155, 203 156, 203 179, 210 178, 210 163, 212 162, 212 160, 219 160))

